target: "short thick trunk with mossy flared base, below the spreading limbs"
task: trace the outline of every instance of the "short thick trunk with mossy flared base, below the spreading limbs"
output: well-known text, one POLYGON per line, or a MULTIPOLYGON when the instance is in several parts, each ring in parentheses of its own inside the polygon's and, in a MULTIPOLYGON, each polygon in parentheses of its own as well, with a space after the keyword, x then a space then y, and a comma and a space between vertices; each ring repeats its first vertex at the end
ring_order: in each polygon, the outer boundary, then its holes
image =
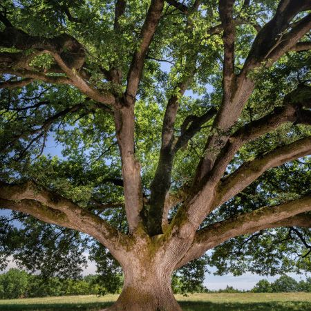
POLYGON ((133 262, 124 267, 124 285, 116 303, 102 311, 181 311, 171 289, 171 269, 133 262))

